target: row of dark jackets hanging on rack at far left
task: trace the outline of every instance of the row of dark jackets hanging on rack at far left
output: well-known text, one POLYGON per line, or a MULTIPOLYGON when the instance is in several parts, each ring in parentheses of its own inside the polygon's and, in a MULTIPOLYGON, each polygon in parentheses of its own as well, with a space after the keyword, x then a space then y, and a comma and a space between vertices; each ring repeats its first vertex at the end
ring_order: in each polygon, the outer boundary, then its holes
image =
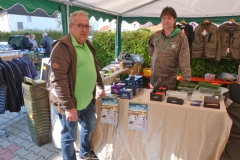
POLYGON ((23 77, 35 78, 37 71, 33 63, 26 58, 17 58, 11 61, 8 61, 8 58, 6 58, 7 61, 3 59, 0 58, 0 114, 6 110, 19 112, 24 105, 23 77), (3 95, 5 95, 6 101, 3 101, 3 95), (6 103, 3 105, 3 102, 6 103))

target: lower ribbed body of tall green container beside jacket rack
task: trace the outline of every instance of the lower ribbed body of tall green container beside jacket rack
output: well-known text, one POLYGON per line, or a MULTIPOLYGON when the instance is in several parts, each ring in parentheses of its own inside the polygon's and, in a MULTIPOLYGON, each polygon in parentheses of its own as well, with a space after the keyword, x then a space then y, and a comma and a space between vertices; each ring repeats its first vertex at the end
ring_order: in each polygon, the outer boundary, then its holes
POLYGON ((24 98, 24 102, 32 141, 38 146, 51 142, 51 116, 48 98, 37 101, 29 101, 24 98))

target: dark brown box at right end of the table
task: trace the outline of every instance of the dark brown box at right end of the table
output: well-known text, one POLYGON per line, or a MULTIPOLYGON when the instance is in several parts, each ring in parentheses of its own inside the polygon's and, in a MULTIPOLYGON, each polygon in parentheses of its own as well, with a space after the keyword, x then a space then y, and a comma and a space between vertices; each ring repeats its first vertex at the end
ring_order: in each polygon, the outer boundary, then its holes
POLYGON ((220 109, 220 97, 219 96, 205 96, 204 97, 204 107, 220 109))

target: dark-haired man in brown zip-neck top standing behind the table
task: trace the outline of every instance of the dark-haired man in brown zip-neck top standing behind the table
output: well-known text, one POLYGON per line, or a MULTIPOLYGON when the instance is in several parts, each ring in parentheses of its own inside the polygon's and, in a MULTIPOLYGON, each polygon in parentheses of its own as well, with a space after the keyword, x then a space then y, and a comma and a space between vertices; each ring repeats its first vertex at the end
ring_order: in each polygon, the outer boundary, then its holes
POLYGON ((174 90, 179 67, 183 82, 189 82, 191 78, 188 40, 176 27, 177 14, 172 7, 165 7, 160 17, 163 30, 152 34, 148 41, 148 51, 152 56, 151 84, 163 79, 168 89, 174 90))

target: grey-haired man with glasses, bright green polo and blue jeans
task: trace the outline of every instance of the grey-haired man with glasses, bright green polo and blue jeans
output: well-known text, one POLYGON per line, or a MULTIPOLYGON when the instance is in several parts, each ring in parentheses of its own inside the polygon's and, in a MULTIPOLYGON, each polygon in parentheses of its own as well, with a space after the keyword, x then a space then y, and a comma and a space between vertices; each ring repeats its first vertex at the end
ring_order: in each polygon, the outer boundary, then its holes
POLYGON ((97 158, 91 150, 91 136, 96 126, 95 87, 97 96, 104 96, 104 86, 89 40, 88 13, 76 11, 69 18, 70 34, 53 44, 51 53, 52 106, 58 111, 62 124, 61 147, 64 160, 76 160, 73 143, 78 123, 80 130, 80 159, 97 158))

